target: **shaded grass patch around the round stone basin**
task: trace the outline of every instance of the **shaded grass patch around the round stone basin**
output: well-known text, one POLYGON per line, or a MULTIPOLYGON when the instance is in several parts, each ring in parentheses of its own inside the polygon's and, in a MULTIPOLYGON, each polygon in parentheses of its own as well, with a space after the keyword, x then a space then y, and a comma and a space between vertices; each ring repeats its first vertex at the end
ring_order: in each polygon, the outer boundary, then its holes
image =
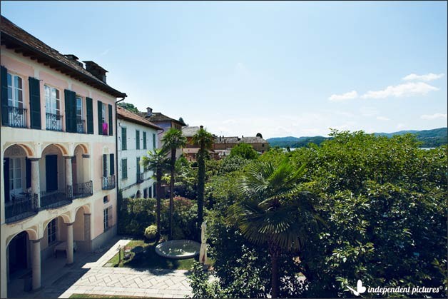
MULTIPOLYGON (((127 268, 159 268, 159 269, 181 269, 190 270, 193 261, 196 258, 187 258, 185 260, 173 260, 163 258, 156 253, 156 243, 145 243, 143 240, 131 240, 126 244, 126 248, 131 248, 131 258, 123 259, 123 251, 121 253, 121 263, 118 265, 118 252, 108 261, 111 267, 127 267, 127 268), (145 252, 143 252, 146 250, 145 252)), ((99 297, 98 297, 99 298, 99 297)))

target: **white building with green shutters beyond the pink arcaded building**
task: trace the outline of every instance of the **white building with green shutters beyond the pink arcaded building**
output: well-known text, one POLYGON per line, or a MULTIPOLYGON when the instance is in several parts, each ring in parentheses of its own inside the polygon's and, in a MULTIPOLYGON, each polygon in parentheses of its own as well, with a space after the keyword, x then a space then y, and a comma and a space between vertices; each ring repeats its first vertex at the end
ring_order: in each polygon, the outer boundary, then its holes
POLYGON ((143 156, 158 146, 161 127, 117 106, 118 116, 118 188, 123 198, 153 198, 153 171, 141 166, 143 156))

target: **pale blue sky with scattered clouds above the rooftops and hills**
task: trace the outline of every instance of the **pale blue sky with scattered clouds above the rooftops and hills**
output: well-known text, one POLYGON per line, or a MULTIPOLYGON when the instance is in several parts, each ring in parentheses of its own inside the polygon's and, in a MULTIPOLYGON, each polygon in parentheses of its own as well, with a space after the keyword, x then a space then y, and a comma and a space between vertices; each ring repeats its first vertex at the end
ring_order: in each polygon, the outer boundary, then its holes
POLYGON ((1 1, 141 111, 225 136, 447 126, 447 2, 1 1))

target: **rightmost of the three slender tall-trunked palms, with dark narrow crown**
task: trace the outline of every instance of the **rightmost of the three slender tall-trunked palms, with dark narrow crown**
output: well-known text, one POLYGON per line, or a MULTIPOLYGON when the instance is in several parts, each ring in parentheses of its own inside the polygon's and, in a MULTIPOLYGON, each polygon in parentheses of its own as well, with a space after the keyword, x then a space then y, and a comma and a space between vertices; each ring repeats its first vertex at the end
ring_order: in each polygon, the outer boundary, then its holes
POLYGON ((203 222, 204 185, 205 185, 205 155, 213 146, 213 135, 203 126, 193 135, 191 143, 199 146, 198 151, 198 229, 203 222))

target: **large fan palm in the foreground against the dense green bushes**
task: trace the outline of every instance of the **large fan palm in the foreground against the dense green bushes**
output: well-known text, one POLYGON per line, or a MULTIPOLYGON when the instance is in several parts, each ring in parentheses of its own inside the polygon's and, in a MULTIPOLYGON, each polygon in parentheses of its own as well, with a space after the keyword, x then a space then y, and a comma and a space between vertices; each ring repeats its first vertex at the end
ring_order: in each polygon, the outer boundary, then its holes
POLYGON ((271 258, 271 295, 278 298, 278 258, 282 252, 297 252, 307 227, 317 223, 309 197, 297 184, 305 167, 295 169, 288 161, 275 167, 254 163, 240 183, 244 198, 228 209, 228 221, 256 245, 267 245, 271 258))

